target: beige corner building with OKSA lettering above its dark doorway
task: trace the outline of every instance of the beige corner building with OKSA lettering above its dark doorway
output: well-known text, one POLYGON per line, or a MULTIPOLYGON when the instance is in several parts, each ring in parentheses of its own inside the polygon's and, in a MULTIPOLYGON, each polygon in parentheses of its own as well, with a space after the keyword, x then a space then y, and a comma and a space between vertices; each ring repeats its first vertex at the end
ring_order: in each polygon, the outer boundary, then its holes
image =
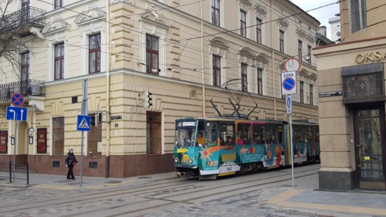
POLYGON ((314 49, 322 189, 386 189, 385 11, 381 0, 340 3, 342 43, 314 49))

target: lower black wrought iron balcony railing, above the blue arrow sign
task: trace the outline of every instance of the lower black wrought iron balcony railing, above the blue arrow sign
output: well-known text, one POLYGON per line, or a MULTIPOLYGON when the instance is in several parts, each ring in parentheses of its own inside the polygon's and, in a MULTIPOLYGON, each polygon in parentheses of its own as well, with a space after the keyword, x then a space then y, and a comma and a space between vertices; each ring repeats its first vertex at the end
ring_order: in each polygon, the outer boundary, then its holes
POLYGON ((24 96, 46 96, 44 81, 24 80, 0 85, 0 101, 10 100, 15 92, 24 96))

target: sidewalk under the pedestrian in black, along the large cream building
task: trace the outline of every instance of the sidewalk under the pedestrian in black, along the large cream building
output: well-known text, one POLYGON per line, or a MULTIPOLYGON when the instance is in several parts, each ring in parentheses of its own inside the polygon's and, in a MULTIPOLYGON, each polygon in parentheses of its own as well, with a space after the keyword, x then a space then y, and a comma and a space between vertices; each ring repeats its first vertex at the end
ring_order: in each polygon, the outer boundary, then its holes
MULTIPOLYGON (((12 173, 13 175, 13 173, 12 173)), ((45 189, 57 189, 68 190, 80 188, 80 177, 77 176, 75 180, 67 179, 65 175, 48 175, 48 174, 30 174, 29 182, 27 185, 26 180, 12 179, 13 183, 10 183, 9 172, 0 172, 0 187, 14 187, 14 188, 45 188, 45 189)), ((26 178, 25 173, 16 173, 16 178, 26 178)), ((101 189, 115 186, 130 186, 137 184, 144 184, 149 182, 155 182, 159 180, 173 179, 175 178, 174 172, 159 173, 153 175, 143 175, 129 178, 103 178, 103 177, 84 177, 82 180, 82 187, 87 189, 101 189)))

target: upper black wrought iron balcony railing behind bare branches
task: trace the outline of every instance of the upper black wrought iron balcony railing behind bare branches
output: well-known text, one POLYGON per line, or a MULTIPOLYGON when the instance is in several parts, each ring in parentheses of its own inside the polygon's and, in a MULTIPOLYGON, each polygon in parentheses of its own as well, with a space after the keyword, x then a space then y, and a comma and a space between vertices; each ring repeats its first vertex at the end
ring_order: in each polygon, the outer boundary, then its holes
POLYGON ((0 33, 26 26, 43 28, 46 24, 44 13, 44 10, 28 6, 6 15, 4 18, 0 18, 0 33))

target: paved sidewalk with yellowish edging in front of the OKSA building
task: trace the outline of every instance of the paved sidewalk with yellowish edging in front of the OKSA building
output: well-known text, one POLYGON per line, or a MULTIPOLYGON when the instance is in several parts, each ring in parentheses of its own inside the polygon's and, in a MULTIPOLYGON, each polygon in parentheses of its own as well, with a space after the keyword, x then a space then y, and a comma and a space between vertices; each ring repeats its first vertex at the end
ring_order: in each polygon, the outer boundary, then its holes
POLYGON ((265 201, 318 216, 386 216, 386 194, 289 189, 265 201))

